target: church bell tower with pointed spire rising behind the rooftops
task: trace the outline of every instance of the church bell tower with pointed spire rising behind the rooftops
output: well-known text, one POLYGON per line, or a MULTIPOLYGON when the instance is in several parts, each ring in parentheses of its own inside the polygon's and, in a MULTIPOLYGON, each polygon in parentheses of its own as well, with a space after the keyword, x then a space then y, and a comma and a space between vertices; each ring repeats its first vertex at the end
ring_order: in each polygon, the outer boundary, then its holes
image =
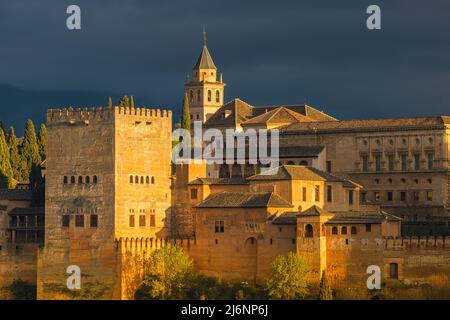
POLYGON ((223 105, 225 84, 222 75, 217 80, 217 68, 206 46, 203 31, 203 48, 194 66, 193 79, 187 79, 184 87, 189 98, 191 121, 205 121, 223 105))

